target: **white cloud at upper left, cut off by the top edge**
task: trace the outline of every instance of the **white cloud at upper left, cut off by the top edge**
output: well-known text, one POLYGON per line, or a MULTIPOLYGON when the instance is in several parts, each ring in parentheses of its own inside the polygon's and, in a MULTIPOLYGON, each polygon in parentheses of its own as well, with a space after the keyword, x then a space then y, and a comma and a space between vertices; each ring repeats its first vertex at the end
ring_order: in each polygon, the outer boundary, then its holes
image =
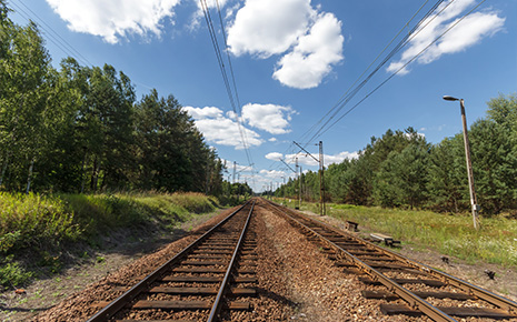
POLYGON ((161 21, 180 0, 47 0, 72 31, 102 37, 109 43, 136 33, 161 34, 161 21))

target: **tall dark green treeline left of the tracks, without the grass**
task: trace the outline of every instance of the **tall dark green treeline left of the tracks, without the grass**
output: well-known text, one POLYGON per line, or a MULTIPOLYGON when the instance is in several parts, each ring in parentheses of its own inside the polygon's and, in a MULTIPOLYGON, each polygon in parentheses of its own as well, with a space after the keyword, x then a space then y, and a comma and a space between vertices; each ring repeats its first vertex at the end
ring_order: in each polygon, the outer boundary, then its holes
POLYGON ((222 192, 222 163, 172 97, 137 100, 113 67, 59 69, 34 23, 0 0, 0 187, 222 192))

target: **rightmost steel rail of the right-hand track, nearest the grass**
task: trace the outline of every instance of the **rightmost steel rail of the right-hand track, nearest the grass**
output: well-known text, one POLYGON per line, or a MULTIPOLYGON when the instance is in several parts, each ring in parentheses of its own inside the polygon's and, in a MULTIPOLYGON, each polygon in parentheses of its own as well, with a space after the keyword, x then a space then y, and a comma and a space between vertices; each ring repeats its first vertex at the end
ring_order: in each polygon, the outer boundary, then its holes
POLYGON ((388 249, 384 249, 384 248, 379 248, 378 245, 374 244, 372 242, 369 242, 369 241, 366 241, 364 239, 360 239, 360 238, 357 238, 352 234, 348 234, 344 231, 340 231, 331 225, 329 225, 328 223, 326 222, 322 222, 322 221, 319 221, 318 219, 309 219, 311 221, 315 221, 317 222, 318 224, 325 227, 326 229, 329 229, 331 230, 332 232, 337 233, 337 234, 340 234, 342 237, 347 237, 347 238, 351 238, 365 245, 368 245, 370 246, 371 249, 376 249, 380 252, 382 252, 384 254, 388 255, 388 256, 391 256, 391 258, 395 258, 399 261, 402 261, 405 262, 406 264, 409 264, 411 265, 412 268, 421 271, 421 272, 425 272, 425 273, 428 273, 428 274, 431 274, 434 276, 436 276, 437 279, 441 280, 443 282, 446 282, 450 285, 454 285, 454 286, 457 286, 464 291, 466 291, 468 294, 470 295, 475 295, 477 296, 478 299, 480 300, 484 300, 490 304, 494 304, 496 306, 499 306, 500 309, 503 310, 506 310, 509 314, 514 314, 514 315, 517 315, 517 303, 509 300, 509 299, 506 299, 506 298, 503 298, 500 295, 497 295, 488 290, 485 290, 483 288, 479 288, 477 285, 474 285, 467 281, 464 281, 464 280, 460 280, 458 278, 455 278, 453 275, 449 275, 447 273, 444 273, 444 272, 440 272, 438 270, 435 270, 433 269, 431 266, 428 266, 426 264, 422 264, 420 262, 417 262, 415 260, 411 260, 411 259, 408 259, 401 254, 398 254, 394 251, 390 251, 388 249))

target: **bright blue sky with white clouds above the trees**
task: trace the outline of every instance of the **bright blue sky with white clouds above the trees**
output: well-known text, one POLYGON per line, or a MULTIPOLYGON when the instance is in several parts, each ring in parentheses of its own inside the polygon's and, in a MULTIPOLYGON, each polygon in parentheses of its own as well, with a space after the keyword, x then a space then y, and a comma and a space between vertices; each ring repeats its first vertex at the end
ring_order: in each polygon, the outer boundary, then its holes
MULTIPOLYGON (((30 18, 40 24, 53 64, 67 56, 74 56, 82 64, 109 63, 131 78, 138 98, 150 88, 161 95, 173 94, 196 120, 207 143, 228 160, 225 175, 231 174, 236 161, 239 180, 255 191, 294 175, 278 161, 282 158, 294 167, 292 157, 299 149, 292 141, 316 154, 315 144, 321 140, 326 164, 354 158, 372 135, 380 137, 387 129, 414 127, 437 143, 461 130, 459 103, 444 101, 444 94, 465 99, 470 124, 485 117, 490 98, 517 89, 515 0, 447 0, 426 20, 424 16, 437 1, 219 0, 227 51, 216 2, 207 0, 220 50, 225 59, 226 52, 231 59, 240 101, 236 115, 200 3, 9 1, 16 22, 26 24, 30 18), (395 71, 398 73, 315 137, 310 130, 320 129, 327 120, 322 118, 347 90, 355 89, 356 80, 362 82, 419 21, 418 33, 410 36, 407 46, 329 124, 395 71), (385 48, 388 50, 375 61, 385 48), (251 167, 242 149, 238 119, 251 167)), ((227 61, 225 68, 230 76, 227 61)), ((310 158, 300 154, 299 160, 304 170, 317 169, 310 158)))

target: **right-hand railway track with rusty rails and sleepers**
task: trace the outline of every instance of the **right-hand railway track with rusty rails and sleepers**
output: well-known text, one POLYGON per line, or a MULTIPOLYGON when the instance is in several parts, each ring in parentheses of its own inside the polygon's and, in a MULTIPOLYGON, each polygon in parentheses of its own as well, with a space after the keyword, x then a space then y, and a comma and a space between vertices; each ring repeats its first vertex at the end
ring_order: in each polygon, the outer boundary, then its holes
POLYGON ((385 314, 428 316, 434 321, 517 319, 517 303, 508 299, 294 210, 272 202, 268 207, 317 243, 337 266, 358 274, 365 284, 365 298, 388 301, 380 304, 385 314))

